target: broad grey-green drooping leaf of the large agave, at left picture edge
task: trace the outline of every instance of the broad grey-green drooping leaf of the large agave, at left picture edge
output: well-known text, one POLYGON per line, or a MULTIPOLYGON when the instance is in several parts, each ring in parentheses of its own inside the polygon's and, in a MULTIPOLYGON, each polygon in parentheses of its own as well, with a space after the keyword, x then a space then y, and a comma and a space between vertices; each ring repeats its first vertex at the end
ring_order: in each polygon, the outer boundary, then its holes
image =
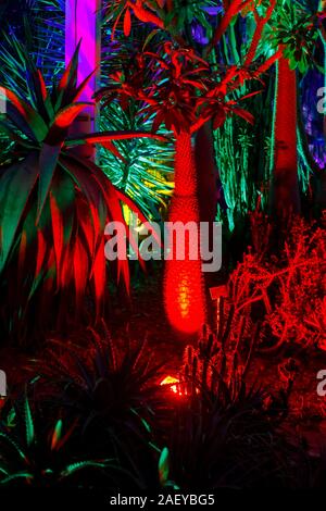
POLYGON ((24 162, 8 169, 0 178, 0 272, 7 263, 28 197, 36 184, 38 169, 37 155, 32 153, 24 162))

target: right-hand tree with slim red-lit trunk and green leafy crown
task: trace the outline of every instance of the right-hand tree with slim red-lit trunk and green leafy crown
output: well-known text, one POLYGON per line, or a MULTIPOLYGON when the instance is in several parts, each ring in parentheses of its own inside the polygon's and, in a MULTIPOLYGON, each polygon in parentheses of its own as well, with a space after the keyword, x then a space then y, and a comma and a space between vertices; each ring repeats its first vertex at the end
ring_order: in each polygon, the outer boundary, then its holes
MULTIPOLYGON (((313 2, 311 2, 313 3, 313 2)), ((277 50, 274 164, 271 210, 286 226, 300 213, 298 178, 298 76, 314 64, 318 14, 304 0, 271 2, 273 9, 262 51, 277 50)))

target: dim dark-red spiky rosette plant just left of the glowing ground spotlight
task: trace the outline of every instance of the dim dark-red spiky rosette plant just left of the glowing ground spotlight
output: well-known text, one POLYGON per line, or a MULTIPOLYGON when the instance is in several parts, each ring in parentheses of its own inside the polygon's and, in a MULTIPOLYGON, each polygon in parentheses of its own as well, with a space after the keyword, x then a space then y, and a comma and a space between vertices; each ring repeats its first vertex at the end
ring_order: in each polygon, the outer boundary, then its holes
POLYGON ((40 362, 43 376, 40 395, 64 407, 68 416, 79 417, 83 433, 95 438, 125 438, 151 432, 161 407, 160 367, 152 362, 146 344, 121 346, 88 329, 86 347, 54 342, 40 362))

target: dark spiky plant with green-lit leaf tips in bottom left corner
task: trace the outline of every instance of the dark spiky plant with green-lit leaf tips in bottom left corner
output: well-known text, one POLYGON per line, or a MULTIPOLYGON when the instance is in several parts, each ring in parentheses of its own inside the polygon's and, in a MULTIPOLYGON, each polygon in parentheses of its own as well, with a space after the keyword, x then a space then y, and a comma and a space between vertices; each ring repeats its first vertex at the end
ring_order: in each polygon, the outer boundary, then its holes
POLYGON ((0 422, 0 487, 92 487, 92 471, 99 477, 115 465, 109 459, 78 458, 71 447, 75 431, 76 423, 67 426, 61 419, 45 424, 27 397, 16 401, 0 422))

